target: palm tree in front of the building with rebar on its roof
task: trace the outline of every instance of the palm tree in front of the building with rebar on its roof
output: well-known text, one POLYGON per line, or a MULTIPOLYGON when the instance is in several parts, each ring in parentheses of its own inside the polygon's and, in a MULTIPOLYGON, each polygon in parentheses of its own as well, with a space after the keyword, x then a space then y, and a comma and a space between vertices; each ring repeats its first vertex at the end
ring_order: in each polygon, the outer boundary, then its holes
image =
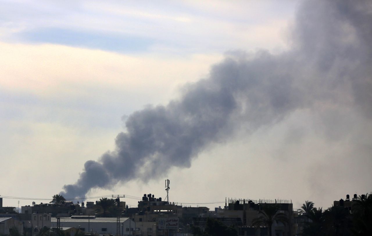
POLYGON ((259 210, 259 217, 252 220, 252 225, 259 227, 266 225, 269 227, 269 236, 272 235, 272 225, 274 222, 282 222, 286 224, 288 222, 288 217, 280 210, 279 204, 262 204, 261 210, 259 210))

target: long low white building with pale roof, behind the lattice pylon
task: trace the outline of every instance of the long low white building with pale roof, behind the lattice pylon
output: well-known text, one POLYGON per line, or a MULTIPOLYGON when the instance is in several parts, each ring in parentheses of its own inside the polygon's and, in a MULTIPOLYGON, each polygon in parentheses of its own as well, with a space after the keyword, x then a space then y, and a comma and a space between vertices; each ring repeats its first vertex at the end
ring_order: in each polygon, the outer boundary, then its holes
MULTIPOLYGON (((135 229, 134 221, 127 217, 120 218, 120 225, 120 235, 130 235, 135 229)), ((52 218, 52 227, 57 227, 57 218, 52 218)), ((75 227, 84 232, 116 235, 116 217, 60 217, 60 227, 75 227)))

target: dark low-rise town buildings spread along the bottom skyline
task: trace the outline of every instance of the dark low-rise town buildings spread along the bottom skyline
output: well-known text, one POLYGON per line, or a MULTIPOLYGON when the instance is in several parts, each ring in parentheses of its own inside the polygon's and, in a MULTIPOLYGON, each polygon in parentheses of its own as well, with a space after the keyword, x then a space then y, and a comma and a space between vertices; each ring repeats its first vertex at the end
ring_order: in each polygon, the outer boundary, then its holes
MULTIPOLYGON (((351 211, 354 199, 356 196, 350 201, 347 195, 345 200, 334 201, 334 206, 344 206, 351 211)), ((135 208, 129 208, 124 201, 118 204, 118 201, 110 208, 110 213, 97 201, 80 204, 33 202, 32 206, 22 206, 21 212, 17 213, 15 207, 3 207, 0 198, 0 235, 10 235, 16 230, 25 236, 42 233, 51 236, 51 232, 58 229, 70 236, 78 232, 87 235, 192 236, 193 227, 203 231, 208 219, 212 218, 233 227, 239 236, 267 236, 269 230, 275 236, 295 236, 301 235, 304 224, 309 221, 305 215, 298 214, 288 200, 228 199, 224 207, 213 210, 181 206, 152 194, 144 194, 135 208), (257 225, 256 219, 270 206, 277 207, 276 214, 285 217, 286 222, 274 222, 271 227, 257 225)))

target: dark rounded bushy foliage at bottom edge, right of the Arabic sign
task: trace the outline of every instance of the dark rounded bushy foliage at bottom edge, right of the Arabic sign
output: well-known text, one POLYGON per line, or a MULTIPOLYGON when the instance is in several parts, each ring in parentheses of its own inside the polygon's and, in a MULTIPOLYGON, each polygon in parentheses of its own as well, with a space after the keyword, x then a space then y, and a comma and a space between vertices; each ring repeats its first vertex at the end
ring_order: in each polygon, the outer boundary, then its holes
POLYGON ((226 226, 219 220, 208 218, 204 232, 199 227, 192 227, 194 236, 237 236, 233 226, 226 226))

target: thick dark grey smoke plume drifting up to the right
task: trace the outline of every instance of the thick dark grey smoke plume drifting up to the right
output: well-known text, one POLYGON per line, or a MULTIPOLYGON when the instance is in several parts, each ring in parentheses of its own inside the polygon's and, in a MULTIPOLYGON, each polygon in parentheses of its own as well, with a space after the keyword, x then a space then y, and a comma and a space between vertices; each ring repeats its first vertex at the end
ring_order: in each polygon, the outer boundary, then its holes
POLYGON ((190 167, 206 146, 237 129, 254 132, 298 109, 355 107, 371 119, 371 22, 370 1, 304 2, 291 51, 232 52, 208 78, 186 85, 178 100, 131 114, 116 150, 87 161, 61 194, 84 197, 92 188, 190 167))

